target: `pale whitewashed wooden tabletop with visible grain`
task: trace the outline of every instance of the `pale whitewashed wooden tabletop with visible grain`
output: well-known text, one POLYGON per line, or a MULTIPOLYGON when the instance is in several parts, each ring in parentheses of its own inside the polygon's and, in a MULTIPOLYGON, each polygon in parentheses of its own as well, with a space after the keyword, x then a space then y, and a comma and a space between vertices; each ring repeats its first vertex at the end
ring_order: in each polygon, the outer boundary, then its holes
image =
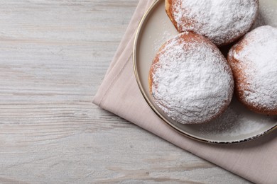
POLYGON ((137 3, 0 1, 0 183, 249 183, 92 105, 137 3))

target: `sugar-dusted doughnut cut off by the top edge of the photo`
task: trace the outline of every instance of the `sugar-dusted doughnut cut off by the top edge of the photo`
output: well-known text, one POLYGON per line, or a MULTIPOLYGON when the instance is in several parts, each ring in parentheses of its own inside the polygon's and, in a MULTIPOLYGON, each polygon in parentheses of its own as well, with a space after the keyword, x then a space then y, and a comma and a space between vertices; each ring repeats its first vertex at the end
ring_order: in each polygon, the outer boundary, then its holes
POLYGON ((247 33, 258 9, 259 0, 165 0, 165 11, 179 33, 195 32, 217 46, 247 33))

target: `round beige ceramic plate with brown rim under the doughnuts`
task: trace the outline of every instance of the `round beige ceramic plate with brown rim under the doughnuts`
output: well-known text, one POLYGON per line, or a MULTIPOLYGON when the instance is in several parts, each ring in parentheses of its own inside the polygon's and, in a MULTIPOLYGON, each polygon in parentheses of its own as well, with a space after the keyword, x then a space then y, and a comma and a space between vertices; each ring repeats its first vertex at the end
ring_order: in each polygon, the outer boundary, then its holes
MULTIPOLYGON (((181 125, 157 108, 148 90, 148 72, 161 45, 178 34, 166 15, 164 6, 164 0, 153 3, 141 20, 134 43, 136 80, 153 111, 174 130, 202 142, 232 144, 246 142, 269 132, 276 133, 277 116, 252 113, 235 98, 223 115, 202 125, 181 125)), ((260 15, 254 26, 263 24, 277 27, 277 0, 260 0, 260 15)))

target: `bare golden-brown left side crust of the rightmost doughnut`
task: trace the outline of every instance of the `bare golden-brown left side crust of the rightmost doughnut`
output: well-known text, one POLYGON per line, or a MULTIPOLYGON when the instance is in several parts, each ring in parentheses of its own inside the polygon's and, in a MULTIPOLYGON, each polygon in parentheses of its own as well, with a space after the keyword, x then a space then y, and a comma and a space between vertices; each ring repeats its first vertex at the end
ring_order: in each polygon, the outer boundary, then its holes
POLYGON ((246 106, 246 108, 249 108, 249 110, 252 110, 255 113, 263 115, 277 115, 277 109, 267 109, 262 107, 261 105, 254 105, 252 103, 249 103, 249 101, 247 101, 244 97, 245 91, 251 91, 251 89, 249 88, 249 81, 244 73, 246 66, 241 67, 242 64, 239 60, 234 58, 234 53, 239 53, 246 44, 246 40, 241 40, 240 42, 238 42, 237 45, 234 45, 231 48, 227 57, 227 62, 229 63, 234 74, 235 95, 237 96, 238 100, 246 106))

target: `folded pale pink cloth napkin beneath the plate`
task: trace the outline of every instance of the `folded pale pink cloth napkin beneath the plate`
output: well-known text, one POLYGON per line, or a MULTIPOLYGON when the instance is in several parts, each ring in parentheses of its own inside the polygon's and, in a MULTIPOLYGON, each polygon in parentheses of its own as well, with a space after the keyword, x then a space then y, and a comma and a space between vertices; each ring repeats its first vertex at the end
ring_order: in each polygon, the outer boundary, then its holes
POLYGON ((213 145, 184 137, 157 117, 136 84, 132 49, 136 28, 153 0, 141 0, 93 102, 192 154, 254 183, 277 183, 277 134, 242 144, 213 145))

